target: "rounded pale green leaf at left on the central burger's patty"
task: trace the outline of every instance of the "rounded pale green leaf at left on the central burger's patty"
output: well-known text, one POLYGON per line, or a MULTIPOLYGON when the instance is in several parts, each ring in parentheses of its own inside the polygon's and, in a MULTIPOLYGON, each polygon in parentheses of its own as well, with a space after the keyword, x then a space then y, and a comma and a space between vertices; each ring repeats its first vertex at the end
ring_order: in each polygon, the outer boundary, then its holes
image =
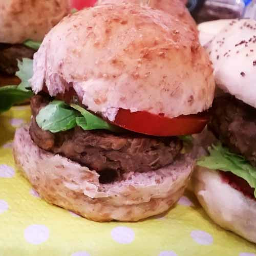
POLYGON ((53 100, 42 108, 36 116, 36 122, 42 130, 58 133, 76 126, 79 113, 60 100, 53 100))

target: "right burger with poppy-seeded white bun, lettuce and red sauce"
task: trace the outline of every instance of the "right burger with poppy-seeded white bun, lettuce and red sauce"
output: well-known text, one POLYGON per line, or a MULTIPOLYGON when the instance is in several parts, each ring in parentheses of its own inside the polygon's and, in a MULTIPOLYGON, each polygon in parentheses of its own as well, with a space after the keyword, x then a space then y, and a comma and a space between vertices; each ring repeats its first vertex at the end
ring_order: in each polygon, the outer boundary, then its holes
POLYGON ((195 193, 212 220, 256 243, 256 21, 230 20, 206 49, 223 92, 208 124, 219 141, 198 161, 195 193))

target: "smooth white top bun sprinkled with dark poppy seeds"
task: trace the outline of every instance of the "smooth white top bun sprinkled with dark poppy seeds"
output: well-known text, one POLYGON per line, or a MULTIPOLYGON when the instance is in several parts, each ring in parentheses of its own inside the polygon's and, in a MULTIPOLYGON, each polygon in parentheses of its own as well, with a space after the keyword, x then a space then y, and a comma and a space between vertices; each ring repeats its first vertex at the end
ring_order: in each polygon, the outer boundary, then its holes
POLYGON ((256 21, 233 19, 206 50, 219 88, 256 108, 256 21))

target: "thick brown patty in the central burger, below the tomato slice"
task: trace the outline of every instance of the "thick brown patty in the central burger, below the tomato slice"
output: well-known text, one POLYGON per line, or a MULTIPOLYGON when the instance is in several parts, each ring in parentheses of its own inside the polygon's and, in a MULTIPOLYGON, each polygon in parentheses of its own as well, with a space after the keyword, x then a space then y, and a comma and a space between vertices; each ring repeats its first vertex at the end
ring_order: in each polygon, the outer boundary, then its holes
MULTIPOLYGON (((177 137, 152 137, 126 132, 74 129, 51 133, 36 123, 39 110, 49 99, 36 95, 31 99, 33 118, 30 126, 32 140, 41 148, 60 154, 103 174, 120 176, 123 172, 147 172, 174 162, 182 149, 177 137)), ((105 179, 109 179, 105 177, 105 179)))

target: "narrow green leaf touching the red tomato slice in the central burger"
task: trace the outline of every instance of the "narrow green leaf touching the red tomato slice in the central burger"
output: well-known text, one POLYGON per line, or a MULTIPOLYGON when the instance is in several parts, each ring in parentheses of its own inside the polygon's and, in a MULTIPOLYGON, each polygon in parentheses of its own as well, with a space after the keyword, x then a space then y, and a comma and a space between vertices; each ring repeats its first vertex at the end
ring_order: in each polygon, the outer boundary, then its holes
POLYGON ((92 114, 91 112, 81 108, 81 106, 76 104, 71 104, 71 107, 79 111, 82 117, 76 118, 76 123, 78 126, 80 126, 83 130, 97 130, 97 129, 103 129, 103 130, 109 130, 112 132, 118 132, 121 129, 116 126, 112 125, 102 118, 92 114))

